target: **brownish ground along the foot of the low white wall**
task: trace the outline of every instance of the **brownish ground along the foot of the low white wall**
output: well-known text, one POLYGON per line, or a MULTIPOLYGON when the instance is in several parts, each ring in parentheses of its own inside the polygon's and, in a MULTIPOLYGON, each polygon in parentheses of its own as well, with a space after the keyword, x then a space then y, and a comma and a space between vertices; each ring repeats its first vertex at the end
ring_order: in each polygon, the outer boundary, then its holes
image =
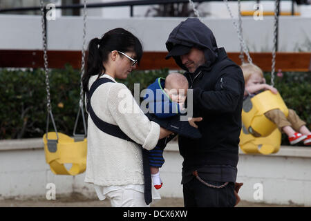
MULTIPOLYGON (((99 201, 97 199, 88 199, 83 195, 75 193, 70 196, 58 195, 56 200, 31 199, 31 200, 0 200, 0 207, 109 207, 109 200, 99 201)), ((183 207, 182 198, 162 198, 155 202, 152 207, 183 207)), ((297 207, 296 205, 262 204, 241 201, 238 207, 297 207)))

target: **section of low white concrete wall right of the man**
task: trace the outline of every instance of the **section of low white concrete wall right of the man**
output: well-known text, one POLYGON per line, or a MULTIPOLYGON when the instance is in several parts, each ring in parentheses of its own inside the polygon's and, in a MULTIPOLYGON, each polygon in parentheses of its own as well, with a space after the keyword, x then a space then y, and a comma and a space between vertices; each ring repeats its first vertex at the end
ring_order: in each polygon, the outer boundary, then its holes
POLYGON ((281 147, 276 155, 240 155, 238 182, 243 200, 311 206, 311 149, 281 147), (295 154, 297 154, 295 156, 295 154), (263 200, 254 200, 255 184, 262 184, 263 200))

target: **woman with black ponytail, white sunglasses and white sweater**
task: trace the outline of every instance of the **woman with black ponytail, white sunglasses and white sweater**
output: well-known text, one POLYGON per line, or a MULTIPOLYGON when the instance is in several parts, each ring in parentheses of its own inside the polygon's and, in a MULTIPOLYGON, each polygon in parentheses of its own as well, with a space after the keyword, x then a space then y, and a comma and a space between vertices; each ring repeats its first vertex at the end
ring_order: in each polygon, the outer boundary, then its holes
POLYGON ((84 92, 88 93, 96 79, 106 77, 113 81, 100 85, 93 93, 93 111, 102 121, 119 126, 134 141, 104 133, 88 116, 84 181, 93 183, 100 200, 109 198, 111 206, 147 206, 144 202, 142 149, 138 144, 151 150, 159 139, 171 133, 150 122, 135 103, 131 91, 115 81, 126 79, 141 57, 140 41, 123 28, 110 30, 102 39, 92 39, 88 45, 87 70, 82 79, 84 92), (124 104, 139 111, 124 111, 124 104))

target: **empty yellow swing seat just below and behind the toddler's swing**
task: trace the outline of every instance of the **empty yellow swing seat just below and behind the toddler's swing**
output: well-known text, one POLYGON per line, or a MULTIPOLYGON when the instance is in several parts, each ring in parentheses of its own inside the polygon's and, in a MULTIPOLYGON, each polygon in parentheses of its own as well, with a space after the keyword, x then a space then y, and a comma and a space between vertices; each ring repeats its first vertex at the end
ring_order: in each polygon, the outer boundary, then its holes
POLYGON ((263 155, 277 153, 281 146, 281 132, 276 128, 267 137, 254 137, 243 125, 239 145, 244 153, 263 155))

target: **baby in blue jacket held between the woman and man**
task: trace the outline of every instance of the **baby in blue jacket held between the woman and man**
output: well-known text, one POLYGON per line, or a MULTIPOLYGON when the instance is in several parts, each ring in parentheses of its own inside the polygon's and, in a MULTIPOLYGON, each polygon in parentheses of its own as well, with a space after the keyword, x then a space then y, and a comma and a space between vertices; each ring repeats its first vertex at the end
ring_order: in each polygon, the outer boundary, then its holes
MULTIPOLYGON (((180 73, 171 73, 164 78, 157 78, 148 89, 153 91, 153 97, 144 97, 148 101, 149 113, 153 113, 158 118, 168 118, 178 115, 184 109, 187 97, 188 81, 180 73)), ((149 164, 151 166, 151 177, 153 186, 156 189, 162 187, 159 168, 164 164, 163 150, 167 143, 176 135, 171 134, 169 137, 158 142, 153 150, 149 151, 149 164)))

